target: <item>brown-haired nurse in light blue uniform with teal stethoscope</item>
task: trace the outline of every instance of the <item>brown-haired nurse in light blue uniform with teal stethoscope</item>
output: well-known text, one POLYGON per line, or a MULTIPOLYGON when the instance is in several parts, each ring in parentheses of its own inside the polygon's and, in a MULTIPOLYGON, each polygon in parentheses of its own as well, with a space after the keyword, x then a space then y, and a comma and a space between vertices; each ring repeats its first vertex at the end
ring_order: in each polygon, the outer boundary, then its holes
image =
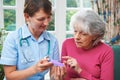
POLYGON ((54 71, 53 63, 45 58, 59 61, 57 39, 46 31, 51 11, 49 0, 25 0, 26 24, 9 33, 3 45, 4 80, 44 80, 49 69, 54 71))

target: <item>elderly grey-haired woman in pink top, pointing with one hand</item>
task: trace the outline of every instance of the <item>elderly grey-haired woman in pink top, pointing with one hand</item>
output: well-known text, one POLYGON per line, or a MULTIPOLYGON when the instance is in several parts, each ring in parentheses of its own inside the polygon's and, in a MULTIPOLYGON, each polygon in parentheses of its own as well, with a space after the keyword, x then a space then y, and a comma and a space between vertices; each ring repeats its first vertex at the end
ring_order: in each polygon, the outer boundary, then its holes
POLYGON ((94 11, 81 10, 72 16, 70 26, 74 38, 62 45, 67 70, 64 80, 113 80, 113 50, 101 42, 105 23, 94 11))

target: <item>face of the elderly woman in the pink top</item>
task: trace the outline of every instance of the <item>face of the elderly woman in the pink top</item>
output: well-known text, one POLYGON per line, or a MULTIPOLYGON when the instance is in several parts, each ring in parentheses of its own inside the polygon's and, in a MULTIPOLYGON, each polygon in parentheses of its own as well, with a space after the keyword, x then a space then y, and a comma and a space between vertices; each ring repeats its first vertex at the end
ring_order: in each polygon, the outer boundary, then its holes
POLYGON ((94 36, 83 32, 80 28, 74 28, 74 40, 77 47, 89 49, 92 47, 94 36))

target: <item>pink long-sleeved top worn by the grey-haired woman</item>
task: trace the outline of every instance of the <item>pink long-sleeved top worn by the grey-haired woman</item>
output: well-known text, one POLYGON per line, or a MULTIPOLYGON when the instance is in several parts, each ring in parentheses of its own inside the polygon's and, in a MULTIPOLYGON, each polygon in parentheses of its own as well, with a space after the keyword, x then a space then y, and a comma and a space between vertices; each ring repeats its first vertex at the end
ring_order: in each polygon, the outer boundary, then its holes
POLYGON ((78 74, 67 66, 67 75, 70 78, 85 78, 87 80, 114 80, 114 55, 107 44, 100 42, 96 47, 85 50, 77 48, 73 38, 67 39, 62 45, 62 56, 75 58, 82 68, 78 74))

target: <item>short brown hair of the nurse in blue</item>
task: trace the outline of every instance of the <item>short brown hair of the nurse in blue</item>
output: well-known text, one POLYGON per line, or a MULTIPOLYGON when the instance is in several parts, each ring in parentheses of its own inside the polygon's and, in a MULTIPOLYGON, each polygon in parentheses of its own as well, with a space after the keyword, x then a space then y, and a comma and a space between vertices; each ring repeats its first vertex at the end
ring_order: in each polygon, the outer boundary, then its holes
POLYGON ((32 17, 40 9, 43 9, 46 14, 51 14, 51 2, 49 0, 25 0, 24 13, 32 17))

